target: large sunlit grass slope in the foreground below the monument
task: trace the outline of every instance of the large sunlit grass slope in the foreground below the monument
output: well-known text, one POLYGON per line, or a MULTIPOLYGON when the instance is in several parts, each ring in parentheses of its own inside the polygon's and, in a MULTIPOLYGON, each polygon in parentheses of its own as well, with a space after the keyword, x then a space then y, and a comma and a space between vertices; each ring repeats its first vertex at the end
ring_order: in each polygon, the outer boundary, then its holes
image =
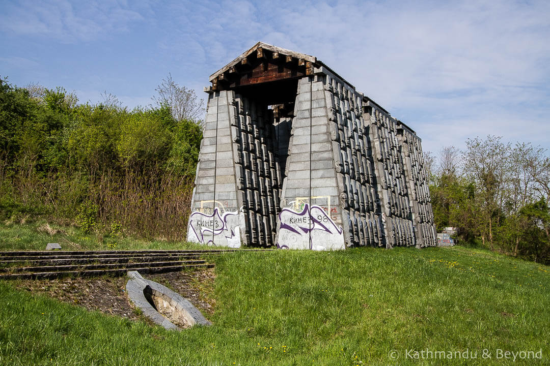
POLYGON ((549 267, 461 247, 212 260, 214 325, 179 333, 0 282, 0 364, 550 364, 549 267), (542 349, 542 359, 514 363, 497 349, 542 349), (406 350, 470 350, 477 359, 413 360, 406 350))

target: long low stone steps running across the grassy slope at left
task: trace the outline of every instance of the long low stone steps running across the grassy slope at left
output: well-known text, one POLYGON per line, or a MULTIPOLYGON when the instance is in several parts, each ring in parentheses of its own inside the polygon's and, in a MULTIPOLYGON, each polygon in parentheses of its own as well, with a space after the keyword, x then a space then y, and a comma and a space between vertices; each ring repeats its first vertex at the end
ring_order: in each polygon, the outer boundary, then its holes
MULTIPOLYGON (((235 250, 83 250, 0 252, 0 279, 123 276, 128 271, 164 273, 211 268, 201 256, 235 250)), ((252 249, 251 251, 257 251, 252 249)))

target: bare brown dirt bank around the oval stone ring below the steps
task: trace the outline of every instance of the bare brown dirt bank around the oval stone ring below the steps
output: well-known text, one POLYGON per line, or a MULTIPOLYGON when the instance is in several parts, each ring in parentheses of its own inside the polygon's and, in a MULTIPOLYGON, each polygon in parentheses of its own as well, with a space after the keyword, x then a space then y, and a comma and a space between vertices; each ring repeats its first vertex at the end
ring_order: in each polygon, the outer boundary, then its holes
MULTIPOLYGON (((214 270, 145 274, 146 279, 161 283, 189 300, 205 316, 213 313, 214 270)), ((51 296, 63 302, 98 310, 132 320, 143 319, 130 305, 126 293, 127 277, 61 278, 18 280, 14 285, 33 294, 51 296)))

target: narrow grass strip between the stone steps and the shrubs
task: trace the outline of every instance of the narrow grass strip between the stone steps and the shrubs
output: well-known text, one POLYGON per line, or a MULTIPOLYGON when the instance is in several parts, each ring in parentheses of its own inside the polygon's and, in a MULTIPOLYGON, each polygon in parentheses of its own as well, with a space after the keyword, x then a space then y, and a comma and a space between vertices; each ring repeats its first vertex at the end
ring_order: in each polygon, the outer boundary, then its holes
POLYGON ((104 236, 85 233, 77 227, 48 224, 50 235, 44 229, 46 222, 26 224, 0 223, 0 250, 45 250, 48 243, 59 243, 62 250, 136 250, 136 249, 205 249, 208 246, 187 241, 148 240, 133 236, 104 236))

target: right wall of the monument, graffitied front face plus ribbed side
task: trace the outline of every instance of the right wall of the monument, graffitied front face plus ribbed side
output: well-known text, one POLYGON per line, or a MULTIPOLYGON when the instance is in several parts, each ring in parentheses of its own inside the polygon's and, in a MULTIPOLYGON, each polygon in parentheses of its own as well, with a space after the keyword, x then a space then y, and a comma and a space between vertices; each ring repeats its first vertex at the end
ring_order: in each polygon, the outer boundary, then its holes
POLYGON ((346 247, 435 244, 427 176, 414 133, 326 69, 300 80, 295 115, 279 215, 280 247, 336 249, 342 240, 346 247), (321 176, 326 179, 316 179, 321 176), (307 205, 330 211, 328 228, 307 214, 307 205), (307 218, 301 227, 297 216, 307 218), (291 218, 294 227, 288 230, 291 218), (321 241, 317 233, 331 235, 321 241))

